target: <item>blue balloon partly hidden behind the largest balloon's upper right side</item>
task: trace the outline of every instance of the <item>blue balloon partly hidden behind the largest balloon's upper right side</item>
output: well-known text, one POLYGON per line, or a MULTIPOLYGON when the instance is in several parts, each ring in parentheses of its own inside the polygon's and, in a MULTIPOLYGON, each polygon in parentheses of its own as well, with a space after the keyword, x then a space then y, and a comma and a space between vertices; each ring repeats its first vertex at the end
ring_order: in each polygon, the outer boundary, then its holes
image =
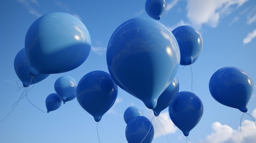
POLYGON ((180 47, 180 65, 193 64, 203 48, 201 33, 192 26, 183 25, 172 31, 180 47))

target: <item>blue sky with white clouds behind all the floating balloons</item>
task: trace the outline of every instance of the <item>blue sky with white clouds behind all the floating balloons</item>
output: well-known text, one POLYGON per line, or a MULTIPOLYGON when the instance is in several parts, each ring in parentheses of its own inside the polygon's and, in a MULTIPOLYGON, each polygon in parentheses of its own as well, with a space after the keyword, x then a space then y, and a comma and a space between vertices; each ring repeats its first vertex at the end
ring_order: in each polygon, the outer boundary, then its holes
MULTIPOLYGON (((88 59, 78 68, 66 73, 52 74, 35 84, 27 97, 46 112, 45 99, 54 93, 58 77, 69 75, 78 83, 94 70, 108 72, 106 48, 115 29, 131 18, 150 18, 145 11, 146 0, 1 0, 0 1, 0 120, 12 110, 11 106, 24 89, 18 81, 13 62, 25 46, 29 26, 40 16, 52 12, 70 13, 87 27, 92 47, 88 59)), ((240 118, 238 109, 224 106, 211 97, 211 75, 225 66, 245 70, 256 87, 256 1, 255 0, 166 0, 166 11, 159 20, 170 30, 181 25, 195 26, 203 37, 203 49, 192 64, 193 92, 204 105, 201 121, 189 134, 193 143, 254 143, 256 127, 248 115, 240 118)), ((180 91, 191 91, 190 66, 180 66, 177 78, 180 91)), ((30 89, 30 88, 29 88, 30 89)), ((124 111, 131 105, 141 109, 144 116, 154 115, 139 99, 119 88, 117 101, 103 115, 98 131, 101 143, 126 143, 124 111)), ((248 112, 256 118, 256 91, 248 105, 248 112)), ((185 143, 186 137, 171 122, 168 110, 153 119, 155 137, 152 143, 185 143)), ((26 98, 20 100, 11 114, 0 123, 1 143, 97 143, 97 122, 76 99, 62 104, 58 110, 43 113, 26 98)))

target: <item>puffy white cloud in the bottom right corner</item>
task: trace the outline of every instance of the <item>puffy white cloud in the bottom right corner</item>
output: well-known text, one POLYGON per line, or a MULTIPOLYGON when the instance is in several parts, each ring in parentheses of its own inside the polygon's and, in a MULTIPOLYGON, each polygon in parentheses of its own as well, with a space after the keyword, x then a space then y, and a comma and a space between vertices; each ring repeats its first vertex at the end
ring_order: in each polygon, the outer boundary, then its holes
POLYGON ((220 122, 212 124, 213 132, 199 143, 254 143, 256 141, 256 127, 253 121, 245 120, 237 130, 222 125, 220 122))

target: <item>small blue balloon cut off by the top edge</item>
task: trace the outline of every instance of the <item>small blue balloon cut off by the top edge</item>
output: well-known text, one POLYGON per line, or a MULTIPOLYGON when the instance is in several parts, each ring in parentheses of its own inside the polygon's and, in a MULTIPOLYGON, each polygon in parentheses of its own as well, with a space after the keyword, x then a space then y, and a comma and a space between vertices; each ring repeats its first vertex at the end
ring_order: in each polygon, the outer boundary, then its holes
POLYGON ((145 9, 148 15, 159 20, 166 9, 165 0, 146 0, 145 9))

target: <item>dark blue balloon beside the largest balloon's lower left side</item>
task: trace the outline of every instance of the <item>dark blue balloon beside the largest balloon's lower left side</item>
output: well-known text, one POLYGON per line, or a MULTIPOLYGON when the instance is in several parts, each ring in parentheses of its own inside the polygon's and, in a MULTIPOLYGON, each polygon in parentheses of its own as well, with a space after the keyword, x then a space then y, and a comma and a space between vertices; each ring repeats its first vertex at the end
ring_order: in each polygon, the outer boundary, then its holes
POLYGON ((76 99, 82 108, 99 122, 117 99, 117 84, 108 73, 101 70, 92 71, 79 81, 76 99))

